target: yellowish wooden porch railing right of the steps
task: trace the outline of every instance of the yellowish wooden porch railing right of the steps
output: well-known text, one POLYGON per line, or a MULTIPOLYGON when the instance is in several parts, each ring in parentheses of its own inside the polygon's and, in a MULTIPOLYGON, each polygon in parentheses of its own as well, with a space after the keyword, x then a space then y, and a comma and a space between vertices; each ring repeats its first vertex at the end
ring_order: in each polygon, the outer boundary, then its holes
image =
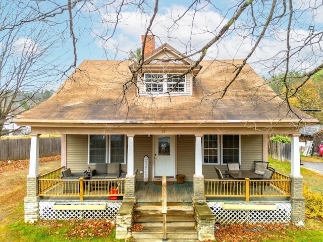
POLYGON ((204 179, 205 197, 290 197, 291 179, 279 172, 275 172, 272 179, 244 180, 234 179, 204 179))

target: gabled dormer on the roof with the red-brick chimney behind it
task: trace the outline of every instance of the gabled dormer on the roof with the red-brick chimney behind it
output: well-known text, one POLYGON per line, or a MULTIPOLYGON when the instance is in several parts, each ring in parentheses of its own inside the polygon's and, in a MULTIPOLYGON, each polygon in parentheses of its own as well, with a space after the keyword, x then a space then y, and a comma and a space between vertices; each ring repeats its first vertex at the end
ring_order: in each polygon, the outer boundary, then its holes
POLYGON ((139 95, 191 96, 193 80, 201 66, 192 69, 194 62, 167 43, 155 49, 153 35, 147 36, 144 46, 143 64, 129 66, 137 77, 139 95))

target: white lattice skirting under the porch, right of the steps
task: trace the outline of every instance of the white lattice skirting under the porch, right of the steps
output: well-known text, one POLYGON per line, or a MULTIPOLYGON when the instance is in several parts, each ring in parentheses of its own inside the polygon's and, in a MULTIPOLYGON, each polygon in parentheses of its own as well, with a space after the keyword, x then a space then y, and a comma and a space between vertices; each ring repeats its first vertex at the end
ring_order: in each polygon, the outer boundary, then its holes
POLYGON ((291 204, 275 203, 277 210, 225 210, 220 202, 207 202, 216 223, 287 223, 291 222, 291 204))

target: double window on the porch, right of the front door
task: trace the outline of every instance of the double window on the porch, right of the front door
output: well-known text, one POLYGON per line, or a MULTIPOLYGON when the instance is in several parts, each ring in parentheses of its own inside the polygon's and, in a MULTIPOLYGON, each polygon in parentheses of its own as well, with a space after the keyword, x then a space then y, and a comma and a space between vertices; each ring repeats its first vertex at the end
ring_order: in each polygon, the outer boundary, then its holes
POLYGON ((203 164, 240 163, 239 135, 204 135, 203 164))

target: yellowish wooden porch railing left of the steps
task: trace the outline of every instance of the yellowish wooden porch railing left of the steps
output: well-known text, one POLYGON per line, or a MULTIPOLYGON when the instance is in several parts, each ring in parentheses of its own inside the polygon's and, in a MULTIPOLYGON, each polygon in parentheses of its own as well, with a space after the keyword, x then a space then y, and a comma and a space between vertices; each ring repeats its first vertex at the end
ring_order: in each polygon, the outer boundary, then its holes
POLYGON ((38 196, 41 197, 110 197, 125 196, 126 179, 38 179, 38 196))

